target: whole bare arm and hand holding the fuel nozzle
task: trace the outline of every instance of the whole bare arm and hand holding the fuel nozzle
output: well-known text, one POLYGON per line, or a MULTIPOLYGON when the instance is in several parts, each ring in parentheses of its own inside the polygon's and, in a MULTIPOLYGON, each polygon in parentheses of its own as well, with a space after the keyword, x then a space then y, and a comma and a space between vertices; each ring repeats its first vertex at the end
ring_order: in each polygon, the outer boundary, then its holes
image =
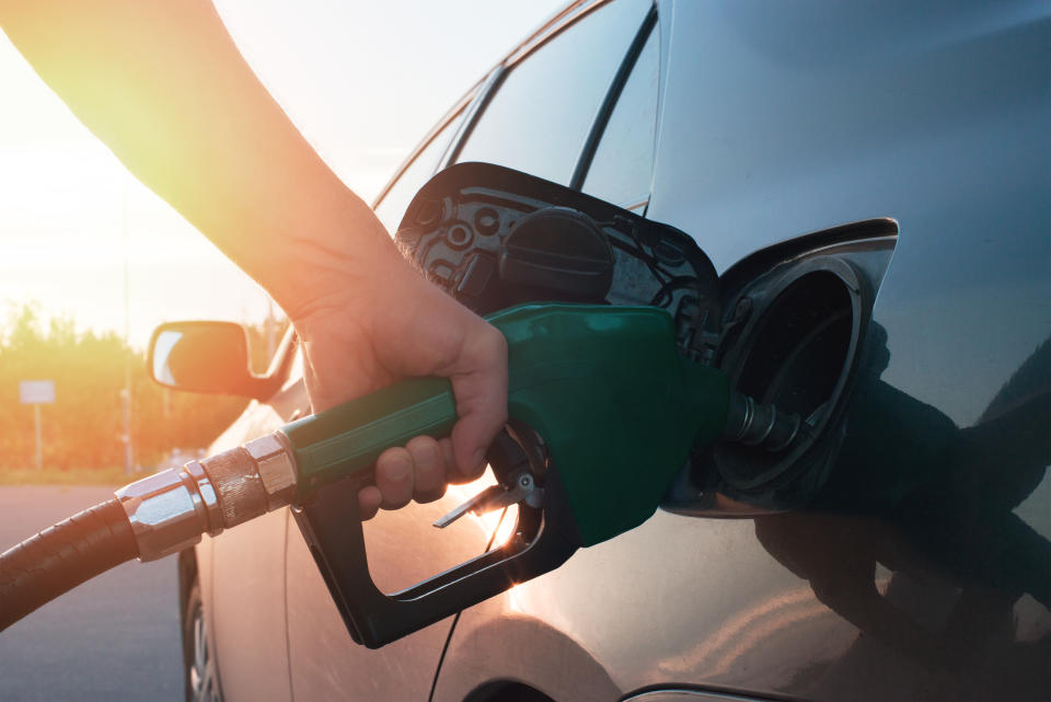
POLYGON ((401 258, 210 2, 0 0, 0 26, 139 180, 285 309, 305 345, 315 410, 404 376, 451 378, 452 441, 385 453, 380 490, 362 491, 367 514, 380 499, 440 494, 453 462, 463 476, 481 470, 506 413, 503 337, 401 258))

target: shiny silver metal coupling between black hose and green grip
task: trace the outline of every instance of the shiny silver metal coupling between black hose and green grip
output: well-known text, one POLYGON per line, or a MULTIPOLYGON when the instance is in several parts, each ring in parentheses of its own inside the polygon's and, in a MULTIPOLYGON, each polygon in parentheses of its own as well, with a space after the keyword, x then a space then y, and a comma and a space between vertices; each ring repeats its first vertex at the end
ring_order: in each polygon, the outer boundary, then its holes
POLYGON ((280 433, 190 461, 116 492, 139 546, 155 561, 291 503, 296 460, 280 433))

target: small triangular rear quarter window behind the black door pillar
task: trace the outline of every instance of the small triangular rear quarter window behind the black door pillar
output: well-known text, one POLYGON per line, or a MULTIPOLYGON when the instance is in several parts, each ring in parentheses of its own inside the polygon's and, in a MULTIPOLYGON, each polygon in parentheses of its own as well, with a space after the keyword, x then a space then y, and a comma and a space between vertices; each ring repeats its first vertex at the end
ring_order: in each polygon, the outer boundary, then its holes
POLYGON ((649 33, 580 188, 615 205, 634 205, 649 196, 660 74, 658 34, 649 33))

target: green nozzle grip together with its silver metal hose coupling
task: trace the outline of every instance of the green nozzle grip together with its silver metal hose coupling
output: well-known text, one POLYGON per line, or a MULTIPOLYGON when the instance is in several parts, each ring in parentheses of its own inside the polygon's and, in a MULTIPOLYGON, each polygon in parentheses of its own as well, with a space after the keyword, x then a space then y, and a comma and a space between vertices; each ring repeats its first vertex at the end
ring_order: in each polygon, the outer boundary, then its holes
POLYGON ((116 494, 140 560, 152 561, 197 543, 203 533, 217 536, 292 504, 325 482, 370 484, 385 449, 421 434, 447 436, 455 421, 448 380, 403 380, 116 494))

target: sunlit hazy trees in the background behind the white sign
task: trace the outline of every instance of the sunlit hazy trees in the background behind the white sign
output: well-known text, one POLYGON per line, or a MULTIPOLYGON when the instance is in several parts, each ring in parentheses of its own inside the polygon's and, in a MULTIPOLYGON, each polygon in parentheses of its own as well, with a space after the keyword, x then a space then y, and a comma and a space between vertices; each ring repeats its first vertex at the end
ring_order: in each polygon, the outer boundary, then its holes
MULTIPOLYGON (((253 355, 265 345, 250 327, 253 355)), ((261 359, 255 359, 256 362, 261 359)), ((113 468, 124 462, 120 392, 129 369, 136 461, 150 468, 174 447, 210 444, 244 410, 246 400, 161 388, 145 354, 113 332, 77 333, 71 320, 41 321, 38 307, 13 310, 0 334, 0 469, 35 461, 33 410, 19 403, 19 381, 53 379, 54 404, 41 407, 44 464, 49 468, 113 468)), ((258 366, 256 366, 258 369, 258 366)))

